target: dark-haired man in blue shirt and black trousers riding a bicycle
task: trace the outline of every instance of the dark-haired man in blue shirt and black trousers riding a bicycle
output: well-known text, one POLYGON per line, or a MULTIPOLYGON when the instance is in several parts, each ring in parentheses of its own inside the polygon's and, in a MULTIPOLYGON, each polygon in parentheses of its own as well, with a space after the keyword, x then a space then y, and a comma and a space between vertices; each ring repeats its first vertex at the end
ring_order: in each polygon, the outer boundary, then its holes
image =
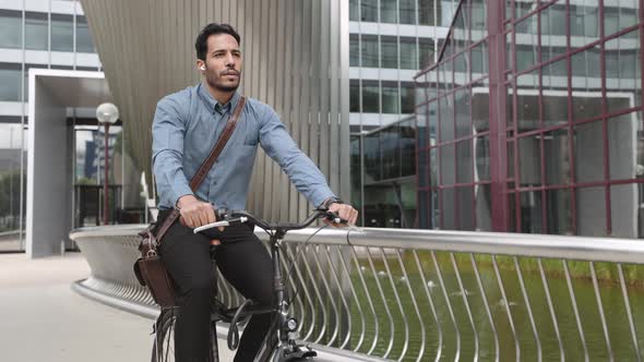
MULTIPOLYGON (((272 264, 266 250, 246 225, 215 230, 211 238, 193 228, 216 220, 214 207, 243 209, 258 144, 276 160, 313 205, 327 206, 342 218, 356 221, 357 210, 342 204, 314 164, 297 147, 275 111, 248 99, 235 132, 217 162, 193 193, 189 180, 207 157, 237 106, 242 57, 240 38, 227 24, 208 24, 194 45, 196 68, 203 81, 163 98, 156 108, 153 164, 159 194, 158 224, 172 208, 180 210, 160 243, 164 264, 180 293, 175 333, 179 362, 207 361, 211 293, 214 276, 208 256, 210 239, 220 240, 216 263, 246 298, 260 303, 273 299, 272 264)), ((252 361, 272 316, 255 315, 248 323, 235 361, 252 361)))

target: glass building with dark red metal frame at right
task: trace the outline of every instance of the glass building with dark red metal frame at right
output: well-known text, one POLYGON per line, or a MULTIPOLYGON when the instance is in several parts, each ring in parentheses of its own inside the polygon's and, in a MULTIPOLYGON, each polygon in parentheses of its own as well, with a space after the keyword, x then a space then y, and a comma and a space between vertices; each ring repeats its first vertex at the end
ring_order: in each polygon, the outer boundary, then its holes
POLYGON ((642 2, 461 1, 419 73, 421 228, 644 234, 642 2))

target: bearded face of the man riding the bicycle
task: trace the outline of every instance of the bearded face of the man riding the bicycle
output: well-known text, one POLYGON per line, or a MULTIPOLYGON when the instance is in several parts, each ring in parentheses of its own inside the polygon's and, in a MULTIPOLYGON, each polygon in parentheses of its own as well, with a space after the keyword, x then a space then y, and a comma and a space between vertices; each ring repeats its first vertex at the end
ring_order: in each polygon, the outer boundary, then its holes
POLYGON ((241 51, 231 35, 216 34, 207 39, 205 80, 217 90, 234 92, 241 79, 241 51))

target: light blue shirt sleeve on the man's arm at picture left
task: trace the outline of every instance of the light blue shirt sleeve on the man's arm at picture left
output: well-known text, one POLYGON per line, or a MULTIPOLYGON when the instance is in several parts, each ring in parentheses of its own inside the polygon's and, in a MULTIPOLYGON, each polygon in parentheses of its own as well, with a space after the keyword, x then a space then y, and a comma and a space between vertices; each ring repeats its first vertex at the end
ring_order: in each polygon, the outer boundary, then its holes
POLYGON ((152 123, 152 162, 159 205, 177 205, 183 195, 193 194, 183 173, 186 120, 179 105, 164 98, 156 105, 152 123))

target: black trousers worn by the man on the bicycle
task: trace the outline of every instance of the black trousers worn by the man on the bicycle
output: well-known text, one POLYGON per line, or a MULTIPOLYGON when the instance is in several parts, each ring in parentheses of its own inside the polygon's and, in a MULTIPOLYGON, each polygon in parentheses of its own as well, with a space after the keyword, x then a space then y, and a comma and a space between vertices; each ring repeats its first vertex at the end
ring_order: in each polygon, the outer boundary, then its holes
MULTIPOLYGON (((162 210, 163 224, 170 210, 162 210)), ((210 240, 218 239, 215 261, 224 277, 246 298, 269 305, 273 300, 273 264, 266 249, 248 225, 212 229, 208 236, 175 222, 160 243, 160 257, 177 283, 180 309, 175 331, 177 362, 204 362, 208 353, 211 301, 215 279, 210 240)), ((235 361, 252 361, 269 330, 270 314, 253 315, 246 326, 235 361)))

